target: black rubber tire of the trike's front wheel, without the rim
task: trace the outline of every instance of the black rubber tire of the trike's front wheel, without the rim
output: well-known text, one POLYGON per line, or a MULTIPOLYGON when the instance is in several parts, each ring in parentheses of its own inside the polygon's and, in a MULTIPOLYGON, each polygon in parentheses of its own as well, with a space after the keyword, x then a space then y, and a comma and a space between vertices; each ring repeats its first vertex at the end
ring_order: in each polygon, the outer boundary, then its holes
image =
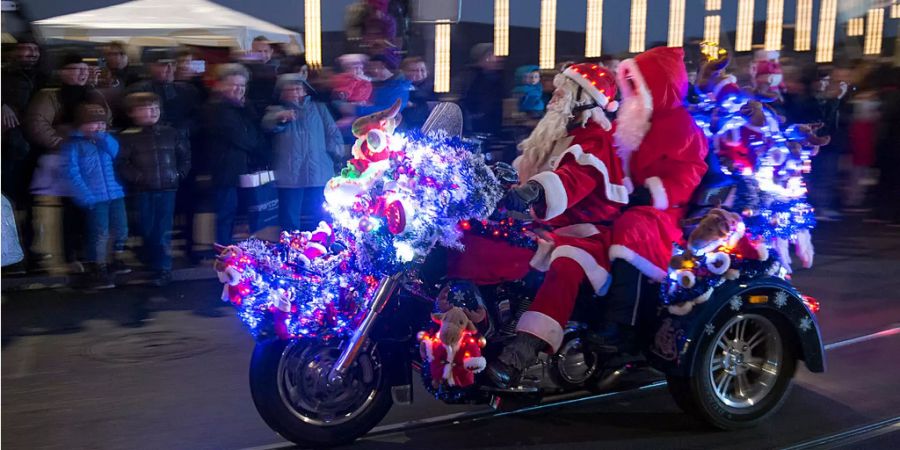
POLYGON ((361 354, 348 373, 348 378, 352 377, 363 363, 372 363, 373 367, 378 367, 370 371, 374 381, 367 391, 371 392, 362 405, 353 409, 349 419, 336 416, 335 420, 329 421, 327 418, 316 417, 316 409, 305 410, 292 405, 285 398, 288 394, 284 394, 286 388, 279 377, 282 360, 293 355, 293 352, 302 354, 330 350, 316 345, 313 342, 284 340, 258 342, 250 362, 253 403, 272 430, 299 446, 320 448, 349 444, 369 432, 387 415, 393 404, 390 389, 376 351, 361 354))

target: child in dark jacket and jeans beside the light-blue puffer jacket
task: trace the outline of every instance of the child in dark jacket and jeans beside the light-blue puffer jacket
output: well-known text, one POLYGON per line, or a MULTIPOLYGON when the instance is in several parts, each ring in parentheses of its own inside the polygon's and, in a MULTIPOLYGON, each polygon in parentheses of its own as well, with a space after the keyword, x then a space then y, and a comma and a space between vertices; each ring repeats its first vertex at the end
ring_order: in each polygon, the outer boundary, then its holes
POLYGON ((172 279, 175 192, 190 170, 190 148, 176 129, 158 123, 156 94, 131 94, 125 107, 135 126, 119 135, 119 173, 137 195, 145 257, 157 272, 154 283, 163 286, 172 279))

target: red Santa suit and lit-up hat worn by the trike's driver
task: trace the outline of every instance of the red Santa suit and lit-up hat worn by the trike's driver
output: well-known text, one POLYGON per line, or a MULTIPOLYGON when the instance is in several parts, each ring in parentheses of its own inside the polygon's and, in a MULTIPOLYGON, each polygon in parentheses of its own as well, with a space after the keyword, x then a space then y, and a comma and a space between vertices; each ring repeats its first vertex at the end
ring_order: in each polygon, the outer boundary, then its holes
MULTIPOLYGON (((565 74, 601 107, 612 102, 615 84, 604 69, 578 64, 565 74)), ((598 113, 602 114, 593 112, 598 113)), ((530 179, 544 191, 543 203, 534 207, 535 216, 551 229, 531 266, 547 276, 516 328, 543 339, 554 351, 562 344, 563 328, 585 278, 597 293, 609 287, 609 224, 628 203, 625 174, 608 123, 590 120, 572 130, 570 137, 571 146, 554 161, 552 170, 530 179)))

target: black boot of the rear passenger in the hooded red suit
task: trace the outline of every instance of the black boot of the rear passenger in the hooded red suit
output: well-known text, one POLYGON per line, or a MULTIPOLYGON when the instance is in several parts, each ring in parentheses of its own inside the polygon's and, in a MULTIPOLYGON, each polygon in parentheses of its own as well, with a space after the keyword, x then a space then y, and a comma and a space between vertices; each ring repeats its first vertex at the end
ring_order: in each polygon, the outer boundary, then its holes
POLYGON ((640 319, 640 298, 646 289, 646 278, 629 262, 613 261, 610 270, 612 282, 604 296, 606 323, 590 340, 596 345, 608 347, 615 353, 635 353, 638 350, 635 327, 640 319))

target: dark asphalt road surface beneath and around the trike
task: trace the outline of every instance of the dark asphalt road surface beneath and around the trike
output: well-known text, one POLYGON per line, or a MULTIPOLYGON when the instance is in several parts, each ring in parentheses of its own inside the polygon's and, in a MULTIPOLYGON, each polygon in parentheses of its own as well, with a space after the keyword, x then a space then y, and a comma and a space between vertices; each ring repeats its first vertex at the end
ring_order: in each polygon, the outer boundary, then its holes
MULTIPOLYGON (((822 304, 828 371, 799 368, 783 409, 757 428, 711 430, 664 386, 499 416, 418 389, 354 447, 900 448, 900 229, 851 217, 814 237, 816 266, 794 281, 822 304)), ((253 407, 253 340, 220 291, 196 281, 4 292, 3 447, 293 448, 253 407)))

